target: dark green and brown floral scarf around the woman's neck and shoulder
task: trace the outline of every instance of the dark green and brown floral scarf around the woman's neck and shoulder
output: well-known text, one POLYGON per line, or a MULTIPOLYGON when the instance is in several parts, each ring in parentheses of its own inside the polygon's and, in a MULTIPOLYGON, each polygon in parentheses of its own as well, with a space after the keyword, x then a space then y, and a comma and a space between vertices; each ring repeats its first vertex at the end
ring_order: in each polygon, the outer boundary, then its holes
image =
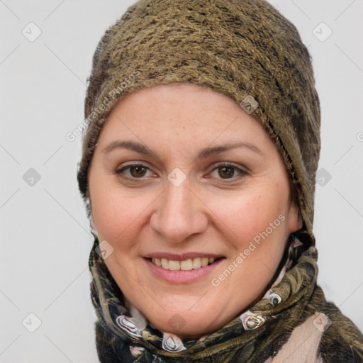
POLYGON ((181 340, 149 323, 123 296, 98 246, 95 236, 89 270, 102 363, 363 362, 362 333, 325 300, 316 285, 318 252, 304 250, 294 233, 279 275, 262 299, 199 340, 181 340))

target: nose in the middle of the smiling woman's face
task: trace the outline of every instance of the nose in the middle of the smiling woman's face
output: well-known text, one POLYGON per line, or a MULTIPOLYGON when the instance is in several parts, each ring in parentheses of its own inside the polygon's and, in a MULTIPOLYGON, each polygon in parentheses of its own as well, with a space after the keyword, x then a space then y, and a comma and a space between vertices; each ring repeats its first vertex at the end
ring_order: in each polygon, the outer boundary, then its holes
POLYGON ((191 235, 203 233, 208 225, 206 205, 192 189, 188 179, 174 186, 167 181, 166 189, 157 199, 150 227, 169 242, 184 242, 191 235))

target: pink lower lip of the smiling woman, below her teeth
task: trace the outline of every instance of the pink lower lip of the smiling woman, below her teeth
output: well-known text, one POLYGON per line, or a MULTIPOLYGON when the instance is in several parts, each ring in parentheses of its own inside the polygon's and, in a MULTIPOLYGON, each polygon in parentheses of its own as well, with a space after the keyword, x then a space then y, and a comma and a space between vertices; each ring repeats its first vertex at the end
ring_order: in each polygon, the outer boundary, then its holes
POLYGON ((156 275, 156 277, 173 284, 186 284, 188 282, 201 279, 201 277, 210 274, 216 267, 219 266, 224 258, 218 259, 216 262, 213 262, 213 264, 208 264, 206 267, 200 267, 199 269, 189 269, 187 271, 181 269, 164 269, 163 267, 153 264, 150 259, 144 259, 147 263, 147 266, 151 269, 152 273, 156 275))

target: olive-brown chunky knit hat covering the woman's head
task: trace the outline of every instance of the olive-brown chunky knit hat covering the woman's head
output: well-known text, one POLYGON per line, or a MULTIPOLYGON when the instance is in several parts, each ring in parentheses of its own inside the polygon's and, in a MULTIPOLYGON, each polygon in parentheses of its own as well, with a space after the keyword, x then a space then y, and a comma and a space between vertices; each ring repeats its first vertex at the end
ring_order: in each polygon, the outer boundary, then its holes
POLYGON ((291 175, 313 235, 320 104, 298 30, 264 0, 141 0, 106 30, 93 58, 77 179, 88 216, 88 172, 113 107, 133 91, 190 82, 225 94, 262 123, 291 175))

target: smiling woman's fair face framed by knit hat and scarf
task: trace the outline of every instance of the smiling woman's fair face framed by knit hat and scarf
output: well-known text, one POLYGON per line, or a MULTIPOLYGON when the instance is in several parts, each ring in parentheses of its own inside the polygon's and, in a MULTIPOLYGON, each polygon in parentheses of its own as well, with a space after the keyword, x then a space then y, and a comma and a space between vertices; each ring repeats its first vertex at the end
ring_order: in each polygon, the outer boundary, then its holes
POLYGON ((289 192, 259 121, 195 84, 121 100, 89 170, 109 271, 152 325, 179 337, 212 333, 262 298, 298 229, 289 192))

